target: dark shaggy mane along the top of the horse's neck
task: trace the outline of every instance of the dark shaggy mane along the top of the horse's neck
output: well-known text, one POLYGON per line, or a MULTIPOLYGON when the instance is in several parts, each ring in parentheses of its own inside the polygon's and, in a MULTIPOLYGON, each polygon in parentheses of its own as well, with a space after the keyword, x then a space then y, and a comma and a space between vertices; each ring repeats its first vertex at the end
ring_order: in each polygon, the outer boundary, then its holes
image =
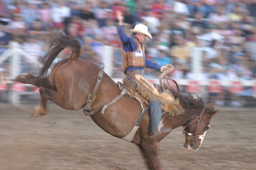
POLYGON ((177 85, 175 80, 174 83, 176 84, 177 88, 171 87, 169 92, 174 96, 176 100, 179 100, 180 104, 183 108, 188 109, 205 109, 205 113, 212 113, 215 109, 214 103, 204 103, 203 99, 199 97, 197 94, 197 98, 194 98, 193 95, 190 93, 181 93, 179 86, 177 85))

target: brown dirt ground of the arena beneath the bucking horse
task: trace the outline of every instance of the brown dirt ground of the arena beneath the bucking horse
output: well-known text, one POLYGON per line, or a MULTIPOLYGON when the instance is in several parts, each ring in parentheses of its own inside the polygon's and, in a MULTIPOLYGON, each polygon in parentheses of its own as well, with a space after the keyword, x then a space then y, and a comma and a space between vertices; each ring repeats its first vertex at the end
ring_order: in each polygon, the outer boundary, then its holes
MULTIPOLYGON (((28 118, 35 105, 0 104, 0 169, 147 169, 133 143, 101 130, 82 111, 55 104, 28 118)), ((255 108, 219 108, 199 151, 183 148, 182 128, 164 138, 164 169, 255 169, 255 108)))

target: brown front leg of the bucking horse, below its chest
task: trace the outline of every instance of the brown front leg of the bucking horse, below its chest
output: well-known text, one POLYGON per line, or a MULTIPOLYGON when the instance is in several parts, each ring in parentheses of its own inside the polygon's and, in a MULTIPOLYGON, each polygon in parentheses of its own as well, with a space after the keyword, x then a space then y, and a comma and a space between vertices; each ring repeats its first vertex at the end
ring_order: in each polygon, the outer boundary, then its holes
POLYGON ((147 143, 146 141, 142 141, 138 146, 146 160, 148 168, 152 170, 161 170, 162 166, 159 157, 159 142, 147 143))

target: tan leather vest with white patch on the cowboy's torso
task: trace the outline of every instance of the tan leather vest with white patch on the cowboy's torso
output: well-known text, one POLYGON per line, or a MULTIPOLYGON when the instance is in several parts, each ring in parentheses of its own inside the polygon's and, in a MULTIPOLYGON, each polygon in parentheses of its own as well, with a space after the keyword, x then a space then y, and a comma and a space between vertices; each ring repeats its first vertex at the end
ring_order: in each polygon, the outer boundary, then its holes
POLYGON ((145 67, 144 45, 142 44, 141 46, 137 38, 133 37, 133 39, 137 45, 137 49, 135 51, 125 52, 122 46, 123 71, 125 71, 127 67, 131 66, 143 68, 145 67))

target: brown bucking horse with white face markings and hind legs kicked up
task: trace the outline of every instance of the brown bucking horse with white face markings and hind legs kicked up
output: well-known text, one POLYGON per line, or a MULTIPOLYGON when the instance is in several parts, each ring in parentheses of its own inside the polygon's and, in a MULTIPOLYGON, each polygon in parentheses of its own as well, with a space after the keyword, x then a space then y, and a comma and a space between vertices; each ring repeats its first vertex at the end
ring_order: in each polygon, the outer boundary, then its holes
MULTIPOLYGON (((67 110, 80 110, 87 102, 87 96, 92 93, 100 71, 97 64, 80 58, 81 48, 75 38, 54 34, 49 43, 50 51, 44 58, 44 66, 39 76, 27 74, 15 79, 18 82, 40 87, 41 105, 35 110, 34 117, 47 114, 47 100, 67 110), (50 75, 44 76, 52 61, 67 46, 72 48, 70 57, 59 61, 50 75)), ((214 104, 204 104, 201 98, 194 99, 193 96, 181 94, 179 90, 174 89, 170 89, 170 93, 179 100, 185 110, 184 114, 170 116, 165 112, 162 116, 164 132, 159 136, 149 136, 147 111, 131 141, 139 146, 150 169, 162 169, 159 159, 159 142, 170 131, 180 126, 183 126, 185 131, 184 147, 189 151, 198 150, 206 130, 209 129, 211 117, 219 111, 214 110, 214 104)), ((120 89, 117 84, 104 73, 90 109, 100 108, 119 94, 120 89)), ((91 118, 105 132, 122 138, 133 129, 140 112, 140 103, 125 95, 106 108, 104 114, 98 112, 91 115, 91 118)))

